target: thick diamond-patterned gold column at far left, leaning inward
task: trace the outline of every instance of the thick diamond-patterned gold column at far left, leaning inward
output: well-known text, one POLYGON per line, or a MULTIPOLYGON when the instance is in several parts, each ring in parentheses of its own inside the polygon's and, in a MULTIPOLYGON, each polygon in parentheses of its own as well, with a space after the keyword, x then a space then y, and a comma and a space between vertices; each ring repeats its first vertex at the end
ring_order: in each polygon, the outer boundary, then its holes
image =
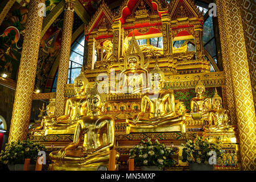
POLYGON ((30 1, 28 5, 27 27, 20 58, 9 143, 27 138, 43 23, 43 16, 39 17, 38 14, 39 3, 44 3, 44 0, 30 1))

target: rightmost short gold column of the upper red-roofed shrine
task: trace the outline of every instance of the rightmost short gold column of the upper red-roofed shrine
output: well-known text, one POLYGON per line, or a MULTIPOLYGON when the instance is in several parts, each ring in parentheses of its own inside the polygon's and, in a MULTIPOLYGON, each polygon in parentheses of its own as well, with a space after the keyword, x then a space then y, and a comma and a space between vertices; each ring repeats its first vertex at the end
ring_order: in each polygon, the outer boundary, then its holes
POLYGON ((196 59, 204 59, 203 27, 201 26, 201 24, 195 25, 195 47, 196 47, 196 59))

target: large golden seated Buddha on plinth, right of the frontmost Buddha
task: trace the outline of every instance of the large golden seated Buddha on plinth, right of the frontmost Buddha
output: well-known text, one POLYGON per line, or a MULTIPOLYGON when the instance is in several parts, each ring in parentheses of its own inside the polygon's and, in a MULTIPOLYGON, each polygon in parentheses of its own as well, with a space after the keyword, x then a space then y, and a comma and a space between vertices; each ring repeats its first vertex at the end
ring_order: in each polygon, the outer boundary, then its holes
POLYGON ((129 124, 126 132, 181 131, 184 133, 186 131, 185 116, 175 107, 174 92, 162 90, 164 73, 157 63, 151 74, 154 91, 143 94, 141 113, 134 118, 126 119, 129 124), (149 113, 146 113, 148 106, 149 113))

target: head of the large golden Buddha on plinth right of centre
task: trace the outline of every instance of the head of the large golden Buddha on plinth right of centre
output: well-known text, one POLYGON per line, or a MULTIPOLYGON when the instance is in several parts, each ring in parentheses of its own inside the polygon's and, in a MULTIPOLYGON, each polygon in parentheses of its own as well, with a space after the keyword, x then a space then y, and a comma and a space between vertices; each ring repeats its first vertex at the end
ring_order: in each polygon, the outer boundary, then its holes
POLYGON ((151 81, 152 81, 152 89, 159 88, 162 89, 162 84, 164 82, 164 72, 159 68, 158 61, 155 63, 154 69, 152 69, 151 73, 151 81))

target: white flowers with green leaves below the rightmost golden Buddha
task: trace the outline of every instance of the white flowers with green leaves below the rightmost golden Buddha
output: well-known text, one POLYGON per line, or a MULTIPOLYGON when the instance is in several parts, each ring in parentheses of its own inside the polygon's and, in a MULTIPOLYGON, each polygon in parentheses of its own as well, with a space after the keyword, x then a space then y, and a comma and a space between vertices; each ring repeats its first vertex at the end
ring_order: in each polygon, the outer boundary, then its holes
POLYGON ((187 140, 187 143, 181 144, 184 146, 181 160, 188 163, 208 164, 210 151, 216 152, 217 159, 221 157, 221 147, 219 144, 220 142, 209 142, 208 138, 203 140, 202 137, 197 137, 195 142, 187 140))

